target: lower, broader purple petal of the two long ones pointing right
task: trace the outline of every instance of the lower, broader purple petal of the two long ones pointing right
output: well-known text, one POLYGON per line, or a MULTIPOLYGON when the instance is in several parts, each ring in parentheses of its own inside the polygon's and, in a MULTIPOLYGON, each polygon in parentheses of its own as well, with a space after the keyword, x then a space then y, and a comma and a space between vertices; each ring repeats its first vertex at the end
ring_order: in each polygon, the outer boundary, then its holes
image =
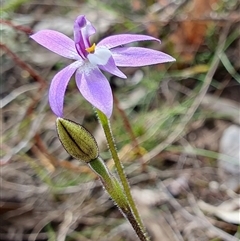
POLYGON ((111 49, 111 52, 115 64, 120 67, 138 67, 175 61, 168 54, 141 47, 120 47, 111 49))

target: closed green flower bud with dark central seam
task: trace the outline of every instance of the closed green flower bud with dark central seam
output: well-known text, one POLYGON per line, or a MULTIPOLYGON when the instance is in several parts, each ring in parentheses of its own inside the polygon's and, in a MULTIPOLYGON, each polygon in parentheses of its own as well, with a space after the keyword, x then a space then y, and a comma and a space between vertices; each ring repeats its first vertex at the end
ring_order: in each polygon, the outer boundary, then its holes
POLYGON ((74 158, 90 162, 98 157, 98 145, 83 126, 67 119, 56 120, 58 137, 66 151, 74 158))

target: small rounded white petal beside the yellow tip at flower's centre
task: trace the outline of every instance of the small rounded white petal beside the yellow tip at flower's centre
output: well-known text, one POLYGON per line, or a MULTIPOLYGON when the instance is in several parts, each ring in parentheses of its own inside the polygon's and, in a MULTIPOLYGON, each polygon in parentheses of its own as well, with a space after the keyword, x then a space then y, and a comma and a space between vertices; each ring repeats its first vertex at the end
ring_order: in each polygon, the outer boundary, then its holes
POLYGON ((88 54, 87 58, 89 62, 93 65, 105 65, 109 58, 112 56, 112 53, 107 48, 96 48, 95 52, 88 54))

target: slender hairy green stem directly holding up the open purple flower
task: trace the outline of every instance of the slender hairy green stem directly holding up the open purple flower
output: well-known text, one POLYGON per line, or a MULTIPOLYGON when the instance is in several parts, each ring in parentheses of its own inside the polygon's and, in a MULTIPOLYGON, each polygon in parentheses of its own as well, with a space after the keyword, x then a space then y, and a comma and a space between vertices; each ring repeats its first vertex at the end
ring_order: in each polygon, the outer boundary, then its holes
MULTIPOLYGON (((123 185, 123 189, 124 189, 125 195, 127 197, 129 206, 131 207, 133 215, 135 216, 139 226, 141 227, 141 229, 144 233, 145 228, 144 228, 143 222, 140 218, 140 215, 138 213, 138 210, 136 208, 136 205, 134 203, 134 200, 133 200, 133 197, 132 197, 132 194, 131 194, 131 191, 130 191, 130 186, 129 186, 127 177, 124 173, 124 170, 123 170, 123 166, 122 166, 121 161, 118 157, 118 153, 117 153, 117 150, 116 150, 116 145, 115 145, 114 138, 113 138, 113 135, 112 135, 109 120, 107 119, 106 115, 103 114, 100 110, 96 109, 96 111, 97 111, 98 118, 99 118, 99 120, 102 124, 103 130, 104 130, 107 142, 108 142, 109 150, 112 154, 112 158, 114 160, 119 178, 120 178, 121 183, 123 185)), ((149 240, 149 239, 146 238, 145 240, 149 240)))

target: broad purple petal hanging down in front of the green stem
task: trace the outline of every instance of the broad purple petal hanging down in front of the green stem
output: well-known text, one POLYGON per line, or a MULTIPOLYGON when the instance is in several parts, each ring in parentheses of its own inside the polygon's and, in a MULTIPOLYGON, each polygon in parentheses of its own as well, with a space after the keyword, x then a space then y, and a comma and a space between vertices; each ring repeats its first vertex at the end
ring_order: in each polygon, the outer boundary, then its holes
POLYGON ((83 97, 110 118, 113 109, 113 96, 110 84, 98 68, 88 72, 77 71, 76 83, 83 97))

